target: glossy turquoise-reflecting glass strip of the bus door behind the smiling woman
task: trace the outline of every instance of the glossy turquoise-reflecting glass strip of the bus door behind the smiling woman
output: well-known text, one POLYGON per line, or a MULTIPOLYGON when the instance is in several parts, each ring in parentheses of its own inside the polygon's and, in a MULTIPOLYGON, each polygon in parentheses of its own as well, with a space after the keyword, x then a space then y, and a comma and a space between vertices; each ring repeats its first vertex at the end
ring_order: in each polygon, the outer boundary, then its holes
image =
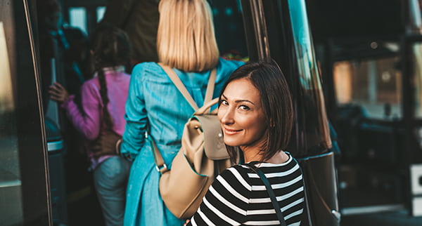
MULTIPOLYGON (((289 0, 288 7, 295 44, 295 55, 298 63, 298 77, 300 83, 299 111, 305 112, 305 131, 309 149, 320 147, 319 151, 331 148, 331 138, 326 118, 324 94, 314 55, 314 46, 309 34, 309 22, 305 1, 289 0)), ((320 153, 314 153, 320 154, 320 153)))

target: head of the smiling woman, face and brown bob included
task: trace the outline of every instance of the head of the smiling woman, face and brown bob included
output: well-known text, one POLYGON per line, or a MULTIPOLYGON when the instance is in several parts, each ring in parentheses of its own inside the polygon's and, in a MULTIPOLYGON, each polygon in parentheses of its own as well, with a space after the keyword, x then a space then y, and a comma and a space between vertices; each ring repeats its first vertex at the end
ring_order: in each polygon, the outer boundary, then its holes
POLYGON ((279 66, 275 62, 250 62, 231 74, 220 95, 219 119, 224 142, 234 158, 236 146, 241 147, 243 154, 249 154, 250 149, 259 152, 250 161, 268 161, 285 150, 293 127, 293 107, 279 66), (244 134, 238 137, 227 134, 236 129, 245 129, 244 134), (230 143, 234 140, 243 144, 230 143))

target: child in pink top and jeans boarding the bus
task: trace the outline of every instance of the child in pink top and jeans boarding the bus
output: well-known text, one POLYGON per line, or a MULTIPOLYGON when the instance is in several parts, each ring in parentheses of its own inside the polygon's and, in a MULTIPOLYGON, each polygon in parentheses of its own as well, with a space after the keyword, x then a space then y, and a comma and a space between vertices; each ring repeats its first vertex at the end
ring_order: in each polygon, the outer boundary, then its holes
POLYGON ((82 85, 82 109, 75 104, 75 95, 69 95, 58 83, 50 86, 49 93, 84 135, 106 225, 122 225, 130 162, 114 149, 110 151, 98 145, 98 140, 115 142, 124 132, 124 104, 130 77, 124 73, 123 65, 129 62, 129 39, 121 29, 103 24, 98 26, 92 40, 96 74, 82 85))

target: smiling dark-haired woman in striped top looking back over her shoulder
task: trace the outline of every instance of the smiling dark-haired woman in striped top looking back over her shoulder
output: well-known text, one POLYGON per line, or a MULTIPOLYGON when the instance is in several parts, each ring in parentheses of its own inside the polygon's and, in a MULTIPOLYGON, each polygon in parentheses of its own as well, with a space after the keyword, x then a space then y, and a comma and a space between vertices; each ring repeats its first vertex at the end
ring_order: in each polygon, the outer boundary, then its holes
POLYGON ((278 65, 250 62, 236 69, 222 88, 218 117, 231 158, 241 149, 245 164, 217 177, 188 225, 300 225, 302 172, 284 152, 293 107, 278 65))

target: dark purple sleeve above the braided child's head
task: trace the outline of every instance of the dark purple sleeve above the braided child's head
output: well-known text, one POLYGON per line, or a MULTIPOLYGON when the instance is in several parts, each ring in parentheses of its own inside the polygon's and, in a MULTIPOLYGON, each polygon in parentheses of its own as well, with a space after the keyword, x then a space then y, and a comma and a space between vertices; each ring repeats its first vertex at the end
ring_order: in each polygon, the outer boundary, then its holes
MULTIPOLYGON (((143 1, 143 0, 137 0, 143 1)), ((110 22, 111 24, 122 28, 126 22, 130 11, 134 7, 135 0, 108 0, 106 12, 101 22, 110 22)))

